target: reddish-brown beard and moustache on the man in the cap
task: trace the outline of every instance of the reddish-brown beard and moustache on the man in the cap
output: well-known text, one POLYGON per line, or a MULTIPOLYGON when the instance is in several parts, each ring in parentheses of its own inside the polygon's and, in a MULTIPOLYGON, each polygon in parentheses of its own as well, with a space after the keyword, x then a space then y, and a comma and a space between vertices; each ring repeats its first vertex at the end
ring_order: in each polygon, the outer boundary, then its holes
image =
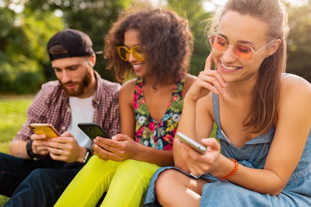
POLYGON ((92 79, 91 70, 90 70, 89 67, 87 67, 87 70, 86 70, 85 75, 84 75, 84 77, 83 77, 81 82, 69 81, 69 82, 66 82, 66 83, 62 83, 60 80, 58 80, 58 81, 61 83, 65 93, 68 96, 79 96, 79 95, 82 95, 85 92, 86 88, 88 87, 88 85, 91 82, 91 79, 92 79), (78 85, 78 89, 77 90, 68 90, 66 85, 67 84, 73 84, 73 83, 78 85))

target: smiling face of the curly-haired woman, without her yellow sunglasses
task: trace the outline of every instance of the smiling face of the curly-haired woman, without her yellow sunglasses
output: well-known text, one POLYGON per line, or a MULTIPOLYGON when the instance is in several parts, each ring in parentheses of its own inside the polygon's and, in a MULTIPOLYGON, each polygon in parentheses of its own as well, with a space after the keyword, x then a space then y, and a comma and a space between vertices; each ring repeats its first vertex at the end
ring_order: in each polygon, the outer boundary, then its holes
MULTIPOLYGON (((124 46, 132 49, 134 46, 139 45, 138 31, 129 29, 124 33, 124 46)), ((132 53, 130 53, 129 63, 132 65, 135 74, 138 77, 143 77, 147 74, 147 67, 145 61, 138 61, 132 53)))

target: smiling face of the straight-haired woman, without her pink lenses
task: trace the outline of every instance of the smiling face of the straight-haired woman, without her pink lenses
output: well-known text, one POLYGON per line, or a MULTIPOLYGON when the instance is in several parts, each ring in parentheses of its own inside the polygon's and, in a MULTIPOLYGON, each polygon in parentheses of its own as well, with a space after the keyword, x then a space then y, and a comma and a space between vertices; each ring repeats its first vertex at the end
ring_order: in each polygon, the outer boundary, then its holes
MULTIPOLYGON (((266 36, 267 28, 265 22, 255 17, 228 11, 219 22, 217 34, 224 37, 230 46, 234 47, 236 44, 241 43, 250 46, 256 53, 270 42, 266 36)), ((272 45, 273 43, 271 43, 272 45)), ((233 47, 227 47, 224 50, 213 49, 213 59, 217 70, 222 74, 226 82, 257 79, 261 63, 271 55, 269 50, 271 46, 268 45, 263 48, 248 61, 238 58, 233 47)))

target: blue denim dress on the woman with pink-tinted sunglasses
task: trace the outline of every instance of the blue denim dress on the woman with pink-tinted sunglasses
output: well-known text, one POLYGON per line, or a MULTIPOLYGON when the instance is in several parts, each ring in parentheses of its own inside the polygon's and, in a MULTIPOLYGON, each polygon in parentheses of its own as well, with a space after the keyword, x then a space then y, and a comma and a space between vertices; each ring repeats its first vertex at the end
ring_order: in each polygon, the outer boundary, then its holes
MULTIPOLYGON (((222 153, 246 167, 263 169, 275 129, 251 139, 238 148, 230 143, 221 130, 218 96, 215 94, 213 94, 213 110, 217 125, 216 137, 220 139, 222 153)), ((144 207, 160 207, 154 191, 155 181, 159 173, 168 168, 182 172, 175 167, 159 168, 150 181, 144 207)), ((211 174, 202 175, 201 178, 211 183, 203 187, 200 207, 311 207, 311 131, 295 171, 278 196, 260 194, 229 181, 221 182, 211 174)))

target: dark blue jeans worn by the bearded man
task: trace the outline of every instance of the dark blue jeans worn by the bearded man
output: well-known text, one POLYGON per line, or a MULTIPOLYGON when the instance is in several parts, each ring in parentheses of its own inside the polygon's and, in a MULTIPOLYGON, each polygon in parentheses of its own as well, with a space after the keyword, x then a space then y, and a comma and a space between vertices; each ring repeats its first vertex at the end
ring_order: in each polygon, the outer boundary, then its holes
POLYGON ((11 197, 3 207, 53 207, 82 166, 0 153, 0 194, 11 197))

